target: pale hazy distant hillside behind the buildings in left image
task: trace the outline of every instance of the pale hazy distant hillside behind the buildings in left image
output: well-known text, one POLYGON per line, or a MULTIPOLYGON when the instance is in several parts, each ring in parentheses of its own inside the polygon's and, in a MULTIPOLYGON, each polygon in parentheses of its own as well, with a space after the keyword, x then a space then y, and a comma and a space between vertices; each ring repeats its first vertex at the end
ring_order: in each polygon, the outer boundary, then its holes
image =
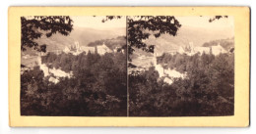
POLYGON ((111 29, 94 29, 87 27, 74 27, 69 36, 64 36, 59 33, 47 38, 42 36, 35 41, 39 44, 46 44, 47 50, 64 49, 65 46, 74 44, 75 41, 79 41, 81 46, 88 46, 90 42, 94 42, 100 39, 110 39, 117 36, 125 35, 125 28, 111 28, 111 29))

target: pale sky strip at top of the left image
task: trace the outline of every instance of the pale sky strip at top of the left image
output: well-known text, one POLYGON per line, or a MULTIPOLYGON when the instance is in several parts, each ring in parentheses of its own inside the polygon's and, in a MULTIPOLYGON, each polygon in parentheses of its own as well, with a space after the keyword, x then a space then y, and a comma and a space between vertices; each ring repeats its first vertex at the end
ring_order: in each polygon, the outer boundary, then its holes
POLYGON ((125 18, 114 19, 107 22, 101 22, 105 17, 71 17, 74 21, 74 26, 79 27, 91 27, 96 29, 107 29, 107 28, 115 28, 115 27, 126 27, 125 18))

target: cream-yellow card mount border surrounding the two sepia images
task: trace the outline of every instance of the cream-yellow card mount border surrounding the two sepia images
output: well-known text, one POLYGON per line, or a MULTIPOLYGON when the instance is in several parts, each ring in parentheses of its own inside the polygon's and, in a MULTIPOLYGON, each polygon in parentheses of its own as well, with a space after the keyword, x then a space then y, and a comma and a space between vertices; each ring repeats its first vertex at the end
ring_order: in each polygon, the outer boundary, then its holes
POLYGON ((10 7, 8 21, 10 126, 221 126, 249 125, 250 9, 248 7, 10 7), (235 28, 234 115, 197 117, 21 116, 22 16, 232 16, 235 28))

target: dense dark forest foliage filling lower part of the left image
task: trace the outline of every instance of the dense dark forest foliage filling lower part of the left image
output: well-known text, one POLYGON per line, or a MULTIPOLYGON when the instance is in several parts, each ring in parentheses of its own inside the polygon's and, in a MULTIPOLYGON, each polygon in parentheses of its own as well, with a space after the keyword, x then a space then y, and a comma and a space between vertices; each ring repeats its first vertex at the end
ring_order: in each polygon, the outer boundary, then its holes
POLYGON ((73 72, 72 78, 49 82, 39 67, 21 76, 22 115, 125 116, 126 54, 103 56, 48 53, 42 63, 73 72))

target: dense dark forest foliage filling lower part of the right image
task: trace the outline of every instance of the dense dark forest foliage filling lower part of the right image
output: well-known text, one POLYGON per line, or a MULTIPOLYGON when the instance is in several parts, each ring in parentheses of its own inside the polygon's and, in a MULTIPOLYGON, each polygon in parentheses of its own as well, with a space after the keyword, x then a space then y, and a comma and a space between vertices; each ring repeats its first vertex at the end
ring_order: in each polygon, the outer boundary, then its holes
POLYGON ((158 63, 175 68, 185 79, 169 85, 155 67, 129 75, 131 116, 232 115, 234 106, 233 54, 167 55, 158 63))

